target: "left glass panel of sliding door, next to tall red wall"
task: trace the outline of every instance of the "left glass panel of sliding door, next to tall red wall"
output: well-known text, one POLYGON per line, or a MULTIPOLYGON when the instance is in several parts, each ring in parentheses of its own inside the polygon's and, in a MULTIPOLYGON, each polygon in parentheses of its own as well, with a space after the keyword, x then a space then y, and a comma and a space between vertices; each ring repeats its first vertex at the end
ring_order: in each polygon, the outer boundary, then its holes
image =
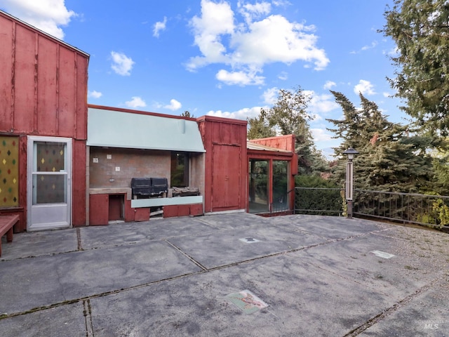
POLYGON ((249 211, 269 212, 269 161, 249 161, 249 211))

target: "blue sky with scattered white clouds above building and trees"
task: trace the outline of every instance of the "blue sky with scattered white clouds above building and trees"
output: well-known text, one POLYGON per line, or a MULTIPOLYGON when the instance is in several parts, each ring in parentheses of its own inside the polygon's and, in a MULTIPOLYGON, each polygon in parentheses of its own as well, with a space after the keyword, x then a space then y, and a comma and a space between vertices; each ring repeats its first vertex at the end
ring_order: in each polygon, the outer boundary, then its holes
POLYGON ((391 0, 1 0, 0 8, 91 55, 88 103, 246 119, 280 88, 310 95, 316 147, 339 145, 329 90, 361 91, 406 123, 386 77, 394 43, 377 29, 391 0))

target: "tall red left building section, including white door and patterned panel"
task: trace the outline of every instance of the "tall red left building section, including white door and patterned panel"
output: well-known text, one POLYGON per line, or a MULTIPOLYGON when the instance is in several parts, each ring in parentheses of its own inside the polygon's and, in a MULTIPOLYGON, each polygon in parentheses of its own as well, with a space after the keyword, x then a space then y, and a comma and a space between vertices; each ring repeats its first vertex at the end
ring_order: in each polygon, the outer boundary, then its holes
POLYGON ((84 225, 89 55, 3 11, 0 46, 0 215, 84 225))

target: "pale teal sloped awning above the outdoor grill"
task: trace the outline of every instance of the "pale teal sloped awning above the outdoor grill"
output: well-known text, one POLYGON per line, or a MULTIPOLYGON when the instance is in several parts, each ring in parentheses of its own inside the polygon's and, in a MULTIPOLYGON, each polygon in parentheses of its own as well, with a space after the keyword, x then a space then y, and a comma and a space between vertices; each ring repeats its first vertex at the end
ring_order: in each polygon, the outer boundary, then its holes
POLYGON ((87 145, 206 152, 196 121, 88 108, 87 145))

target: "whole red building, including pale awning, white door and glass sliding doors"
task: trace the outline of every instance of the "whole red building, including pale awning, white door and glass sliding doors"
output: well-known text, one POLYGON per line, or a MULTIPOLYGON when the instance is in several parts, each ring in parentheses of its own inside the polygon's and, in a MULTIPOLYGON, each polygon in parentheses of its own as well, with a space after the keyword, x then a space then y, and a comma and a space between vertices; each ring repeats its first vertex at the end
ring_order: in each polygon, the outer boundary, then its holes
POLYGON ((89 55, 2 11, 0 46, 0 216, 19 214, 16 232, 291 213, 294 136, 248 142, 246 121, 88 105, 89 55), (136 194, 150 177, 166 190, 136 194))

